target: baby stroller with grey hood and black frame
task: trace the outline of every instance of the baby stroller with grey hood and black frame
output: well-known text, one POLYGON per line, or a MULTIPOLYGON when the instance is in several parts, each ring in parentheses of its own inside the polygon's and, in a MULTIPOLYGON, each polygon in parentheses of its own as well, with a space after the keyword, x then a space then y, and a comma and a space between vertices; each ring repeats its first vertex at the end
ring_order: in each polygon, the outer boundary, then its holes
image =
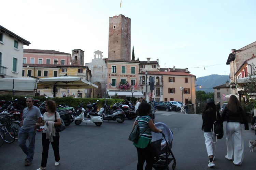
POLYGON ((156 170, 169 170, 169 164, 173 160, 172 169, 175 170, 176 159, 172 153, 172 131, 168 128, 165 123, 155 123, 157 129, 161 129, 162 133, 152 132, 152 143, 156 140, 162 139, 161 141, 161 154, 155 155, 153 168, 156 170))

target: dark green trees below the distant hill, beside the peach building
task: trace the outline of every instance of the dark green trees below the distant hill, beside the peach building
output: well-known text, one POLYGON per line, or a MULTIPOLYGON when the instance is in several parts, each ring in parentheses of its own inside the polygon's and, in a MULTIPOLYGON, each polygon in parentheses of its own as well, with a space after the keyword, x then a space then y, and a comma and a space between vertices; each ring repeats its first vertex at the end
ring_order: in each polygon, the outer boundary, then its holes
POLYGON ((196 99, 197 99, 197 114, 203 113, 203 108, 206 104, 206 100, 214 98, 213 92, 205 93, 205 91, 199 90, 196 92, 196 99))

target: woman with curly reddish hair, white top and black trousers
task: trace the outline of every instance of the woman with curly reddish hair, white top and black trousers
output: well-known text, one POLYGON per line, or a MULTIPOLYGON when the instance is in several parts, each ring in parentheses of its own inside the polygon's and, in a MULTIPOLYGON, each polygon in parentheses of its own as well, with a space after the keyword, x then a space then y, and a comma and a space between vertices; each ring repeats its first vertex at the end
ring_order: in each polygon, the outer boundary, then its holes
POLYGON ((47 100, 45 102, 45 109, 47 112, 43 115, 42 123, 36 123, 35 125, 44 126, 44 130, 42 133, 42 161, 41 166, 37 170, 43 170, 46 168, 48 151, 50 142, 53 147, 54 157, 55 157, 55 166, 59 165, 59 132, 55 131, 55 126, 59 126, 61 124, 60 115, 56 112, 56 104, 52 100, 47 100), (56 113, 56 118, 55 118, 56 113), (57 121, 56 121, 57 120, 57 121), (56 122, 55 122, 56 121, 56 122))

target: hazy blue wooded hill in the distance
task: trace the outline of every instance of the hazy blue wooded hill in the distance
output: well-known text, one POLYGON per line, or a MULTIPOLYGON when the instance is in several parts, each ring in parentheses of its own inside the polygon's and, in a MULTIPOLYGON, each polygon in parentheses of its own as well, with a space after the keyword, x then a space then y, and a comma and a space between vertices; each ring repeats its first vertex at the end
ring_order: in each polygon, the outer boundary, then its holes
POLYGON ((199 86, 197 86, 196 91, 202 90, 205 92, 214 92, 213 87, 225 84, 226 81, 230 81, 229 75, 212 74, 204 77, 199 77, 197 78, 196 85, 201 85, 202 88, 199 88, 199 86))

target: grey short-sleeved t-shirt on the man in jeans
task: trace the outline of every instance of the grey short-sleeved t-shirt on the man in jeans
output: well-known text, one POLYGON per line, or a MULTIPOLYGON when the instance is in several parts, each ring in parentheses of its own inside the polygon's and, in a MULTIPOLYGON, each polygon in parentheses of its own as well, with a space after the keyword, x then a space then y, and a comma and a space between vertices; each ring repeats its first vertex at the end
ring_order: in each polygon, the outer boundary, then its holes
POLYGON ((32 108, 29 110, 28 110, 28 107, 24 108, 23 114, 22 114, 22 118, 23 118, 22 128, 25 130, 33 128, 35 123, 37 123, 37 119, 40 117, 41 117, 41 113, 38 107, 32 106, 32 108))

